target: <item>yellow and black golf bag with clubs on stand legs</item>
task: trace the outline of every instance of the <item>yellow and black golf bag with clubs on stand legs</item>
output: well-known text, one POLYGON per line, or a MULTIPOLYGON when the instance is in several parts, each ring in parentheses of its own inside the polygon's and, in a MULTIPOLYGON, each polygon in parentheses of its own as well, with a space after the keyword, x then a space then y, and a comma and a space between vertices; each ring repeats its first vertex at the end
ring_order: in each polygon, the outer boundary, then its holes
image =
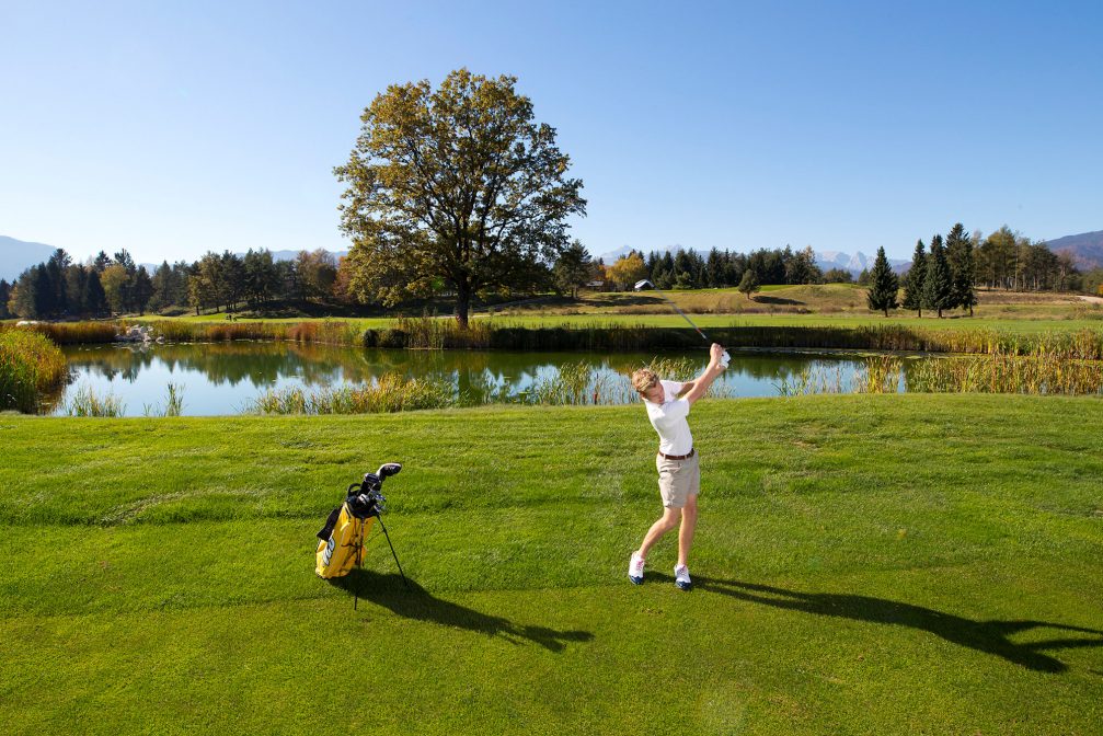
MULTIPOLYGON (((360 567, 364 561, 364 541, 372 525, 378 521, 379 529, 387 540, 390 554, 398 565, 398 574, 403 584, 409 588, 403 565, 398 562, 395 545, 390 544, 390 535, 383 523, 381 513, 386 511, 383 497, 383 481, 397 474, 403 467, 397 462, 379 466, 376 472, 364 474, 364 480, 349 487, 344 503, 330 512, 325 526, 318 533, 318 550, 314 552, 314 573, 322 578, 334 578, 347 575, 353 567, 360 567)), ((353 608, 356 607, 353 601, 353 608)))

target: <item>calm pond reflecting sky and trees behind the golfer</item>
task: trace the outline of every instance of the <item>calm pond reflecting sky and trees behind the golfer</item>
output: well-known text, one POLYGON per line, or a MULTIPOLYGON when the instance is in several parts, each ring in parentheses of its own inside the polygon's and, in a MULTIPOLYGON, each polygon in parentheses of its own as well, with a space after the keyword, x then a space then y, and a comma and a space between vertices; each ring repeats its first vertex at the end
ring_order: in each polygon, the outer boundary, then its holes
MULTIPOLYGON (((465 403, 518 401, 540 382, 554 380, 560 366, 579 364, 591 369, 588 391, 604 392, 599 403, 617 404, 636 401, 625 376, 656 356, 688 359, 695 371, 707 361, 705 350, 608 355, 365 350, 253 341, 69 345, 64 352, 74 380, 54 413, 64 414, 74 393, 90 387, 98 395, 111 393, 121 399, 126 416, 163 412, 169 384, 182 393, 183 415, 214 416, 248 412, 270 390, 363 386, 394 373, 447 382, 465 403)), ((724 396, 777 396, 802 372, 811 371, 849 392, 864 366, 865 360, 855 354, 733 352, 716 391, 724 396)))

